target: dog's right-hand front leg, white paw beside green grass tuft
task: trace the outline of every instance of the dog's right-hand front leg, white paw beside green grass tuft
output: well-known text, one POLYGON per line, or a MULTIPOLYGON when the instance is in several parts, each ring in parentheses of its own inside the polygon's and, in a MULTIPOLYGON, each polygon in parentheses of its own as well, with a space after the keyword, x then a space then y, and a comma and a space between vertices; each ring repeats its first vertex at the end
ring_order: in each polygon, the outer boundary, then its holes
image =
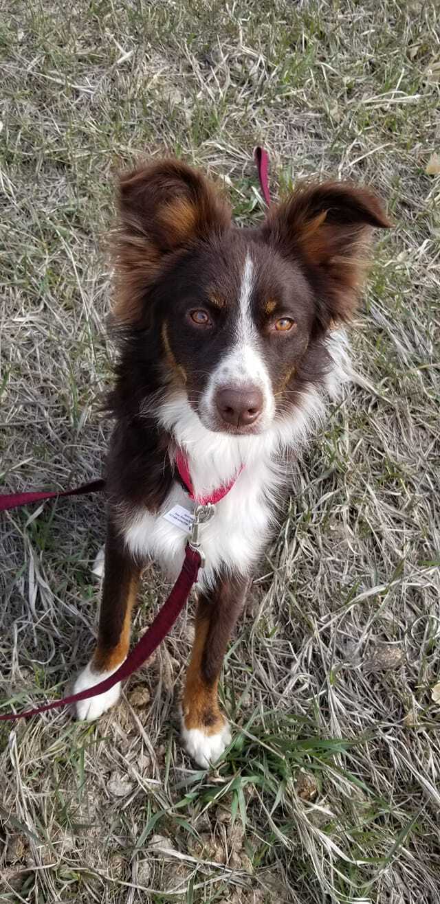
POLYGON ((231 740, 219 709, 217 685, 226 645, 243 607, 249 580, 218 579, 202 592, 196 612, 196 636, 182 706, 184 745, 199 766, 208 767, 231 740))

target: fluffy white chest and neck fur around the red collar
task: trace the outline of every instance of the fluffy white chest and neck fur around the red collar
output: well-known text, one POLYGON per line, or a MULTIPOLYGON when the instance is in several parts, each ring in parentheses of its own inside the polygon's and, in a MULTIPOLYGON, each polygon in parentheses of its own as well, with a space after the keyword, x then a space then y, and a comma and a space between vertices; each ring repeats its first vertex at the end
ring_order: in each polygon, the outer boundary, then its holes
MULTIPOLYGON (((212 586, 220 570, 245 576, 258 561, 285 484, 285 459, 301 446, 323 410, 320 393, 311 389, 294 414, 273 420, 261 434, 233 437, 207 430, 184 391, 158 407, 161 423, 187 453, 196 494, 207 494, 236 476, 230 492, 216 504, 215 517, 202 528, 206 567, 199 572, 201 587, 212 586)), ((123 523, 129 550, 140 559, 157 561, 170 579, 176 579, 182 567, 187 542, 187 534, 163 517, 176 504, 191 506, 186 490, 174 483, 158 513, 142 508, 123 523)))

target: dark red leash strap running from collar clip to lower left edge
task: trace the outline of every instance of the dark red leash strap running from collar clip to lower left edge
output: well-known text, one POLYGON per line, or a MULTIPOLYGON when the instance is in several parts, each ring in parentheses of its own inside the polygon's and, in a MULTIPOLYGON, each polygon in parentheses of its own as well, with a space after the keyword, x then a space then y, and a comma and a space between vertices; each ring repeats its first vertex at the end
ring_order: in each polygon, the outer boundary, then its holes
POLYGON ((95 684, 94 687, 86 688, 85 691, 72 693, 70 697, 62 697, 62 700, 44 703, 43 706, 37 706, 34 710, 28 710, 27 712, 5 712, 4 715, 0 716, 0 721, 29 719, 30 716, 37 716, 40 712, 56 710, 60 706, 68 706, 70 703, 76 703, 80 700, 89 700, 91 697, 97 697, 100 693, 110 691, 110 687, 113 687, 114 684, 123 681, 124 678, 128 678, 130 674, 136 672, 136 670, 145 663, 148 656, 154 653, 156 647, 161 643, 164 637, 167 636, 174 625, 177 616, 187 602, 189 591, 196 583, 200 563, 200 552, 193 550, 188 543, 182 570, 169 597, 162 608, 159 609, 158 615, 154 619, 153 624, 148 627, 146 634, 140 638, 137 645, 133 647, 131 653, 127 656, 125 662, 123 662, 119 669, 110 675, 109 678, 105 678, 104 681, 95 684))

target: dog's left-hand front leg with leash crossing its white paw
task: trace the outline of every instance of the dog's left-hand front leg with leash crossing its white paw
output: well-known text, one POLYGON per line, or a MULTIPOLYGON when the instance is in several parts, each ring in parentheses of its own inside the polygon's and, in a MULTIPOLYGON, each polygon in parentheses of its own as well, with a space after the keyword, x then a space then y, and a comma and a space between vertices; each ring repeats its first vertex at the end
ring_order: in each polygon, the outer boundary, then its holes
MULTIPOLYGON (((131 608, 139 585, 140 566, 131 557, 111 519, 107 524, 104 580, 100 603, 98 643, 91 661, 78 675, 77 693, 107 678, 123 663, 129 652, 131 608)), ((79 719, 92 720, 110 709, 120 697, 120 683, 90 700, 76 704, 79 719)))

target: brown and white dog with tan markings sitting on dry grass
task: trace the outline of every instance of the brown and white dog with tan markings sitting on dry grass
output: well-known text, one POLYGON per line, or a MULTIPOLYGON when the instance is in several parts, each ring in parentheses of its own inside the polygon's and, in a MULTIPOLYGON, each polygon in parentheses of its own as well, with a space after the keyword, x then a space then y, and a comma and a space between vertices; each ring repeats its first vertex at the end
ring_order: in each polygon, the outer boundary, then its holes
MULTIPOLYGON (((149 559, 175 579, 187 536, 164 515, 234 482, 203 527, 196 638, 182 705, 187 751, 206 767, 229 743, 217 702, 225 648, 271 535, 289 462, 344 379, 341 326, 356 306, 372 228, 365 188, 301 187, 262 225, 239 229, 206 178, 177 160, 120 179, 115 320, 120 360, 110 409, 108 531, 98 645, 75 692, 113 673, 149 559)), ((81 702, 96 719, 120 695, 81 702)))

